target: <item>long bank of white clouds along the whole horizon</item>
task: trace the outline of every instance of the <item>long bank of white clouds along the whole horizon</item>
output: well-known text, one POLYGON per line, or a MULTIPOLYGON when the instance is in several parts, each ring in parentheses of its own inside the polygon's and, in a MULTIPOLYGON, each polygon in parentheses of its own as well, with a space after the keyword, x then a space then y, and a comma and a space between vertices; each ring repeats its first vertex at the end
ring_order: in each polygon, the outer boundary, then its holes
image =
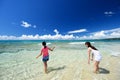
POLYGON ((104 38, 120 38, 120 28, 115 28, 111 30, 101 30, 98 32, 90 33, 89 35, 84 36, 74 36, 74 35, 62 35, 59 34, 57 29, 54 30, 55 35, 22 35, 19 37, 16 36, 7 36, 0 35, 0 40, 71 40, 71 39, 104 39, 104 38))

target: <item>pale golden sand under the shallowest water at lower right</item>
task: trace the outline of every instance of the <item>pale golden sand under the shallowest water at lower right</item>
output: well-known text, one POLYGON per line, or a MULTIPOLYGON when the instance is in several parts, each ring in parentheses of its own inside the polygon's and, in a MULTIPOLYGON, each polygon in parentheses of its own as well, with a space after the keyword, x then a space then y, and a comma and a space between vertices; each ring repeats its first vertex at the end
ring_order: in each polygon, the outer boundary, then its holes
POLYGON ((73 61, 61 67, 48 68, 48 74, 36 76, 35 80, 119 80, 120 57, 106 56, 100 63, 98 74, 93 73, 94 61, 73 61))

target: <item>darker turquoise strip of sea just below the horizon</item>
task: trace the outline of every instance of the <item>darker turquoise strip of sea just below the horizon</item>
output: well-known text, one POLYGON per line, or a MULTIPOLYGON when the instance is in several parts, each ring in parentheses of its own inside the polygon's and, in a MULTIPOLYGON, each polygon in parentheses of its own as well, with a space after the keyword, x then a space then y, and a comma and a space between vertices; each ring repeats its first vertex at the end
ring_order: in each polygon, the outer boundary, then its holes
MULTIPOLYGON (((87 40, 90 41, 98 49, 108 49, 116 52, 120 49, 120 40, 87 40), (109 49, 110 48, 110 49, 109 49)), ((42 40, 1 40, 0 41, 0 54, 14 54, 20 51, 37 51, 41 46, 42 40)), ((84 40, 47 40, 50 46, 58 46, 59 49, 86 49, 84 40)))

